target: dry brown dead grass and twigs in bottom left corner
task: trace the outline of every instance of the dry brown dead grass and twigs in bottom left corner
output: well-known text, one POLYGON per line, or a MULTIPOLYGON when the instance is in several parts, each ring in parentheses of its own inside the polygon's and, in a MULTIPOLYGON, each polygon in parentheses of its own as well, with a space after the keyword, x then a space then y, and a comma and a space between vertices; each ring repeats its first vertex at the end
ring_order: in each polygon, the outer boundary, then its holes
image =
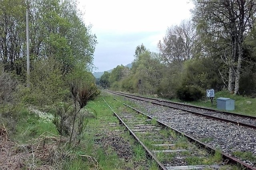
POLYGON ((89 162, 98 169, 97 160, 92 156, 70 154, 64 149, 68 139, 60 135, 45 132, 36 139, 26 141, 26 144, 17 144, 8 138, 6 128, 0 127, 0 169, 33 169, 54 170, 61 169, 65 158, 73 159, 76 156, 88 158, 89 162))

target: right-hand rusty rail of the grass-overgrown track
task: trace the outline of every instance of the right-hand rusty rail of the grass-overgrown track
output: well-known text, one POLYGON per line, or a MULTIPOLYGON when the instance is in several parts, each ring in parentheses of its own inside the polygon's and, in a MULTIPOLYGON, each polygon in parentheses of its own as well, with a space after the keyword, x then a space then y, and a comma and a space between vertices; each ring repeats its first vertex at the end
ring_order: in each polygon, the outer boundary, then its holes
MULTIPOLYGON (((115 99, 115 98, 114 98, 114 99, 115 99)), ((115 100, 117 100, 117 99, 115 99, 115 100)), ((117 100, 117 101, 118 101, 118 100, 117 100)), ((119 101, 119 102, 120 102, 120 101, 119 101)), ((149 116, 149 115, 146 115, 146 114, 143 113, 142 111, 139 111, 138 109, 136 109, 136 108, 134 108, 134 107, 131 107, 131 106, 125 104, 125 103, 123 103, 123 104, 124 104, 125 106, 130 107, 131 109, 137 111, 138 113, 147 116, 149 119, 153 119, 153 117, 151 117, 151 116, 149 116)), ((175 128, 173 128, 173 127, 170 127, 169 125, 166 125, 165 123, 163 123, 163 122, 161 122, 161 121, 158 121, 158 120, 156 120, 156 121, 157 121, 160 125, 162 125, 162 126, 164 126, 164 127, 168 127, 168 128, 170 128, 170 129, 176 131, 176 132, 177 132, 178 134, 180 134, 180 135, 186 136, 190 141, 197 143, 198 145, 200 145, 201 147, 204 147, 205 149, 209 150, 209 151, 212 152, 213 154, 215 154, 215 152, 219 152, 219 151, 217 151, 216 149, 214 149, 213 147, 211 147, 211 146, 209 146, 209 145, 207 145, 207 144, 205 144, 205 143, 202 143, 202 142, 198 141, 198 140, 195 139, 194 137, 192 137, 192 136, 190 136, 190 135, 187 135, 186 133, 183 133, 183 132, 179 131, 178 129, 175 129, 175 128)), ((250 166, 250 165, 247 165, 246 163, 244 163, 244 162, 242 162, 242 161, 240 161, 240 160, 238 160, 238 159, 236 159, 236 158, 234 158, 234 157, 232 157, 232 156, 229 156, 228 154, 226 154, 226 153, 224 153, 224 152, 220 152, 220 153, 221 153, 222 156, 223 156, 222 158, 225 158, 225 159, 230 160, 230 162, 232 162, 233 164, 239 164, 239 165, 243 166, 244 168, 246 168, 247 170, 256 170, 256 168, 254 168, 254 167, 252 167, 252 166, 250 166)))

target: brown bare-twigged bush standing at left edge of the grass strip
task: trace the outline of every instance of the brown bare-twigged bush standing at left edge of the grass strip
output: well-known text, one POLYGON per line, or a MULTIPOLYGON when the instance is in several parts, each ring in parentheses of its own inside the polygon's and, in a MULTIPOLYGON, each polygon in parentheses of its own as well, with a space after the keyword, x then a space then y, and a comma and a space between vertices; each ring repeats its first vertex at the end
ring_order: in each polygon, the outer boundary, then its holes
POLYGON ((97 88, 94 84, 82 83, 77 79, 71 80, 68 84, 74 103, 56 105, 53 123, 60 133, 60 138, 62 136, 68 137, 70 146, 77 147, 82 139, 88 118, 92 115, 84 107, 93 99, 92 96, 96 95, 97 88))

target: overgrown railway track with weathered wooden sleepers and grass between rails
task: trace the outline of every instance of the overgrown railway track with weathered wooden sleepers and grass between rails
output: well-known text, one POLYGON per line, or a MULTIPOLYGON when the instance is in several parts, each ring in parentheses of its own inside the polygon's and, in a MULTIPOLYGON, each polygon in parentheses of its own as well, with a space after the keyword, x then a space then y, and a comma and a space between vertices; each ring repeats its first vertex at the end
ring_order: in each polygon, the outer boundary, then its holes
MULTIPOLYGON (((108 105, 107 102, 106 104, 108 105)), ((159 169, 220 169, 224 164, 231 163, 238 164, 248 170, 255 170, 252 166, 215 150, 193 137, 153 119, 153 117, 142 113, 138 109, 127 104, 124 105, 136 112, 117 114, 109 105, 108 107, 118 117, 120 123, 144 147, 148 156, 157 162, 159 169), (202 148, 208 150, 208 152, 205 152, 202 148), (218 154, 222 155, 221 163, 217 161, 217 158, 220 157, 218 154)))

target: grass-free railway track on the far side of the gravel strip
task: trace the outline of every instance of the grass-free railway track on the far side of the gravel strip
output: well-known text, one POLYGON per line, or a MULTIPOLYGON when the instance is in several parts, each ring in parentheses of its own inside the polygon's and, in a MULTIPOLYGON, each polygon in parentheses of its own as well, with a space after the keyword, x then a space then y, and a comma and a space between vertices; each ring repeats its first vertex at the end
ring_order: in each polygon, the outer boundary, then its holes
POLYGON ((166 100, 159 100, 155 98, 148 98, 144 96, 136 96, 133 94, 126 94, 122 92, 114 92, 108 90, 108 92, 111 92, 113 94, 118 94, 121 96, 125 96, 128 98, 141 100, 144 102, 150 102, 152 104, 160 105, 160 106, 166 106, 171 107, 174 109, 180 109, 195 115, 200 115, 203 117, 207 117, 209 119, 219 120, 219 121, 225 121, 229 123, 234 123, 236 125, 241 125, 245 127, 250 127, 253 129, 256 129, 256 117, 248 116, 248 115, 241 115, 237 113, 230 113, 226 111, 219 111, 215 109, 205 108, 205 107, 198 107, 198 106, 191 106, 187 104, 181 104, 176 102, 170 102, 166 100))

